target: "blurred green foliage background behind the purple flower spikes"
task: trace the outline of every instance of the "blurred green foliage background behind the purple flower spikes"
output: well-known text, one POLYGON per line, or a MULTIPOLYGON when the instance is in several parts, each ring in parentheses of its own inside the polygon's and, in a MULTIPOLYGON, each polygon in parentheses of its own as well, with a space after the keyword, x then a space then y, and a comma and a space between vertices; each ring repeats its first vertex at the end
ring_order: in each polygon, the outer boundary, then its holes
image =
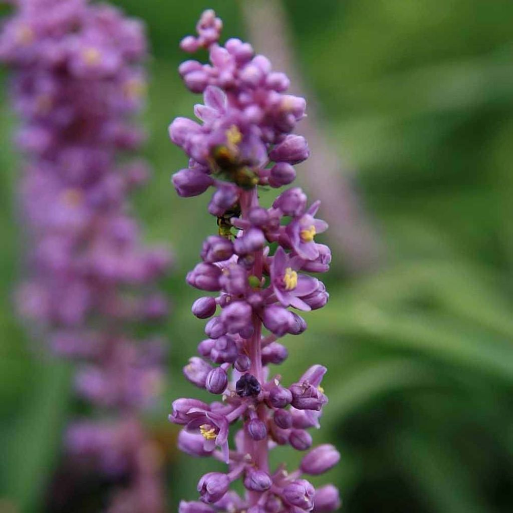
MULTIPOLYGON (((241 0, 254 1, 258 0, 241 0)), ((186 163, 167 125, 197 97, 176 73, 180 38, 213 7, 225 36, 245 36, 233 0, 119 0, 145 19, 152 46, 145 154, 153 180, 134 203, 149 241, 176 266, 164 288, 168 383, 148 424, 167 450, 169 511, 196 497, 216 463, 174 448, 170 402, 196 394, 181 368, 202 339, 184 282, 215 230, 208 198, 182 200, 169 179, 186 163)), ((285 382, 327 364, 330 402, 314 442, 342 453, 314 483, 341 489, 347 513, 513 510, 513 3, 510 0, 288 0, 294 52, 329 139, 354 169, 383 246, 376 268, 348 275, 334 255, 331 294, 285 344, 285 382)), ((3 75, 5 83, 5 74, 3 75)), ((18 280, 13 116, 0 105, 0 511, 52 511, 60 439, 77 411, 72 368, 37 350, 11 305, 18 280)), ((299 178, 301 182, 301 177, 299 178)), ((329 187, 329 184, 326 184, 329 187)), ((278 458, 298 460, 279 449, 278 458)), ((91 492, 92 493, 92 492, 91 492)), ((80 511, 94 511, 93 499, 80 511), (87 507, 86 507, 87 506, 87 507)), ((77 509, 78 511, 78 509, 77 509)), ((68 512, 74 513, 74 511, 68 512)))

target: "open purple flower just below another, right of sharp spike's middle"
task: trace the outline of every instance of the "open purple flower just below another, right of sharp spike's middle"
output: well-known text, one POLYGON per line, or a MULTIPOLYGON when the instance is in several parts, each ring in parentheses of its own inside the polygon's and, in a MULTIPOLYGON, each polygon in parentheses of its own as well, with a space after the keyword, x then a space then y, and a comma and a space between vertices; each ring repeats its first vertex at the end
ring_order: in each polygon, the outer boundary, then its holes
POLYGON ((289 257, 280 246, 274 253, 270 266, 271 284, 274 294, 283 306, 308 311, 310 307, 301 298, 314 292, 319 281, 306 274, 298 274, 302 263, 301 258, 289 257))

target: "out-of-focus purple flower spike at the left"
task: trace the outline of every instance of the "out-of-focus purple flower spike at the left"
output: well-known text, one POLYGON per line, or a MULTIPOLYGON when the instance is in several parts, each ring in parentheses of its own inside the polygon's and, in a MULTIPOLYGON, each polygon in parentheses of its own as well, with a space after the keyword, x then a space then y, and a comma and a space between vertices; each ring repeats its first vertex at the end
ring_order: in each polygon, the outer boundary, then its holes
POLYGON ((159 389, 162 348, 131 340, 127 323, 166 315, 153 284, 170 259, 142 245, 129 213, 127 194, 145 182, 146 165, 120 161, 144 139, 132 121, 144 101, 144 30, 87 0, 13 3, 0 60, 12 71, 22 122, 16 142, 26 154, 20 200, 29 279, 18 290, 19 309, 58 354, 80 360, 78 391, 105 407, 108 423, 77 424, 67 438, 81 460, 124 479, 128 472, 111 513, 158 513, 159 462, 140 410, 159 389))

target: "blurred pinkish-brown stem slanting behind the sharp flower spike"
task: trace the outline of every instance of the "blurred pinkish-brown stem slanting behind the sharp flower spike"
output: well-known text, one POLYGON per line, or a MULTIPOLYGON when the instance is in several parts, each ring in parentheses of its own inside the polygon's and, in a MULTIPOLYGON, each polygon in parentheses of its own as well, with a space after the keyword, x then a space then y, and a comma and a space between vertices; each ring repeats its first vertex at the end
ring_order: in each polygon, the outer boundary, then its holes
POLYGON ((242 0, 241 8, 251 43, 270 57, 276 70, 284 71, 291 82, 291 92, 307 97, 308 116, 298 132, 306 137, 310 159, 302 164, 308 188, 323 204, 323 217, 329 223, 328 236, 344 266, 358 272, 375 265, 379 243, 363 211, 357 194, 347 179, 347 169, 329 144, 320 120, 314 95, 306 91, 291 50, 287 16, 280 0, 242 0))

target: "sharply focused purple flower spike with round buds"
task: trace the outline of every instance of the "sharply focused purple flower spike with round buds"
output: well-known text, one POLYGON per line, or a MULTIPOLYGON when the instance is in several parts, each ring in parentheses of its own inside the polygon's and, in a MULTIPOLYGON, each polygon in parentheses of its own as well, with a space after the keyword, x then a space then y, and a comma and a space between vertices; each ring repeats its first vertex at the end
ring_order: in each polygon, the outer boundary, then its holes
POLYGON ((169 127, 171 140, 190 157, 189 167, 173 176, 177 193, 194 196, 215 189, 208 209, 219 234, 206 239, 203 262, 187 275, 191 286, 215 293, 192 305, 196 317, 210 318, 208 338, 184 374, 220 400, 176 400, 169 418, 183 426, 179 447, 184 452, 225 462, 228 471, 203 476, 201 501, 182 501, 180 512, 334 511, 340 506, 337 488, 315 490, 304 477, 339 461, 332 445, 311 449, 297 470, 288 472, 284 464, 271 470, 268 462, 269 449, 277 445, 310 449, 308 429, 319 427, 328 401, 322 365, 313 365, 289 386, 279 375, 270 376, 267 367, 287 358, 280 337, 306 329, 289 307, 308 311, 328 300, 324 284, 305 274, 327 271, 331 260, 329 248, 314 239, 327 228, 315 218, 319 203, 308 207, 303 191, 290 188, 271 208, 259 204, 262 186, 290 184, 293 165, 308 157, 304 138, 290 133, 306 104, 284 93, 288 78, 272 71, 267 58, 254 55, 248 43, 230 39, 220 46, 221 28, 221 20, 208 10, 196 26, 198 36, 182 41, 185 51, 207 49, 211 64, 180 66, 186 86, 204 94, 204 105, 194 109, 202 123, 179 117, 169 127), (218 308, 219 315, 212 317, 218 308), (229 426, 236 421, 242 426, 230 448, 229 426), (247 490, 244 497, 229 490, 238 479, 247 490))

